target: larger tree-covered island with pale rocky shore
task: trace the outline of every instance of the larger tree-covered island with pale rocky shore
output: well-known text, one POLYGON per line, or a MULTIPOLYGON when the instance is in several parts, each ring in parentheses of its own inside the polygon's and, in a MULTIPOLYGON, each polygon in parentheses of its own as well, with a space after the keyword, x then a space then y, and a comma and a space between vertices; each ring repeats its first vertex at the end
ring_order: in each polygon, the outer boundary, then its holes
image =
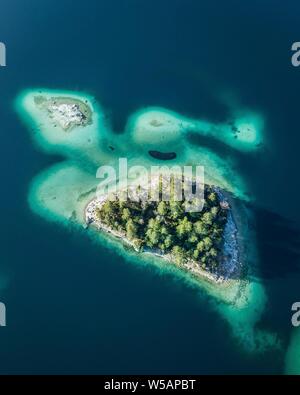
POLYGON ((93 199, 86 207, 87 225, 195 276, 220 282, 236 274, 237 230, 230 205, 220 189, 205 185, 204 206, 197 212, 187 211, 187 201, 177 201, 172 195, 169 201, 151 201, 131 191, 131 200, 123 199, 124 192, 93 199))

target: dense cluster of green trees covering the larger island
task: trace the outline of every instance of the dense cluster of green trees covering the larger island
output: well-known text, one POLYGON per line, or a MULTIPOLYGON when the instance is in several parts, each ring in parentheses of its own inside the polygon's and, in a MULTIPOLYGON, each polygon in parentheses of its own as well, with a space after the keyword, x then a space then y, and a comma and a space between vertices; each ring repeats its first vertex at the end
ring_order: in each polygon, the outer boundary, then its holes
POLYGON ((172 253, 177 264, 188 260, 214 270, 220 261, 227 210, 218 195, 205 186, 201 212, 186 212, 185 201, 107 200, 97 216, 107 226, 126 235, 137 248, 172 253))

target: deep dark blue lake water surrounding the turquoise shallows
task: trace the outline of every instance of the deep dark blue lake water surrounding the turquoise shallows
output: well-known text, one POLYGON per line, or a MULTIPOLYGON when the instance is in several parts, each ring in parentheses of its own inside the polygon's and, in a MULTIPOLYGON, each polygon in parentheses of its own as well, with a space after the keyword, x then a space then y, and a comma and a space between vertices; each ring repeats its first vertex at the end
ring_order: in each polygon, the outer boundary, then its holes
POLYGON ((28 87, 87 91, 117 131, 146 105, 224 119, 222 92, 262 113, 265 151, 236 157, 257 201, 261 324, 286 345, 300 299, 299 22, 292 0, 1 1, 0 373, 283 371, 284 354, 243 353, 194 290, 30 212, 30 180, 59 158, 35 149, 13 100, 28 87))

